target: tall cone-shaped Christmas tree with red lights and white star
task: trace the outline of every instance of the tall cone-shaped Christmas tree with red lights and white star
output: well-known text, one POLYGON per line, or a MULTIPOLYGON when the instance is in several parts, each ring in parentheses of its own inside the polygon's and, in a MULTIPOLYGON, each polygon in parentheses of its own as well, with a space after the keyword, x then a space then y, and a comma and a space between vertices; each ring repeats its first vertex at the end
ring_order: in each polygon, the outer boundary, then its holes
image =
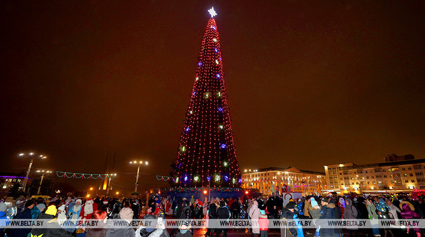
POLYGON ((202 38, 191 103, 173 176, 177 187, 208 187, 209 182, 211 187, 241 186, 224 86, 220 39, 213 18, 208 20, 202 38))

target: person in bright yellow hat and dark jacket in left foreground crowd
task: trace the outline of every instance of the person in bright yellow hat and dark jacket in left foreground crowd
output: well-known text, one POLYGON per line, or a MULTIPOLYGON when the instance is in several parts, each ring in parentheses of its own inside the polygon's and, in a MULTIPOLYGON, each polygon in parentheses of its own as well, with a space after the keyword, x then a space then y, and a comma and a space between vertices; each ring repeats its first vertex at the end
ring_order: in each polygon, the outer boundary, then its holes
MULTIPOLYGON (((39 204, 40 205, 40 204, 39 204)), ((43 236, 43 237, 73 237, 72 233, 66 231, 62 228, 62 226, 57 222, 55 218, 57 213, 56 207, 54 205, 50 205, 45 213, 40 214, 39 219, 48 219, 47 223, 45 223, 45 228, 33 228, 31 230, 32 236, 43 236)))

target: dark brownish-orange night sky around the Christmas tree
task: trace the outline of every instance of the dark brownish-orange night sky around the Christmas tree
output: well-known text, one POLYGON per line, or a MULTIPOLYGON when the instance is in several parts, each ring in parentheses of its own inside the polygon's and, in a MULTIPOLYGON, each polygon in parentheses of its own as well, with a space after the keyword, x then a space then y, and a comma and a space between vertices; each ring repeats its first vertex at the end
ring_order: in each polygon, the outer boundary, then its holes
POLYGON ((424 1, 5 0, 0 171, 165 186, 211 6, 241 169, 425 158, 424 1))

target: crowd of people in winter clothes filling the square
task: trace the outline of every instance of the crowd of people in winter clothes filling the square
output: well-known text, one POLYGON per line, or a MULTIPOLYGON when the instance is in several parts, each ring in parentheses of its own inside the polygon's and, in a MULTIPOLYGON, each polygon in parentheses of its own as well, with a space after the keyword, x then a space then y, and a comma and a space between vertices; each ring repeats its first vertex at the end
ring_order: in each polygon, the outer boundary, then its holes
MULTIPOLYGON (((346 229, 323 228, 321 220, 335 219, 419 219, 425 213, 425 196, 307 196, 285 201, 282 196, 271 197, 228 197, 200 201, 193 196, 173 198, 155 195, 142 205, 137 198, 111 197, 55 199, 46 203, 43 198, 29 199, 7 207, 0 202, 0 221, 4 219, 47 219, 43 228, 4 228, 0 224, 0 237, 191 237, 193 228, 183 222, 178 228, 167 230, 164 219, 207 219, 206 237, 227 237, 227 228, 217 227, 217 219, 251 219, 254 237, 267 237, 269 220, 312 219, 314 226, 284 225, 281 237, 398 237, 422 236, 418 228, 346 229), (134 219, 152 220, 153 226, 133 226, 134 219), (73 220, 99 220, 96 228, 84 225, 69 225, 73 220), (127 228, 111 226, 113 220, 122 220, 127 228), (64 225, 64 223, 67 223, 64 225)), ((0 222, 4 223, 4 222, 0 222)), ((189 223, 189 222, 188 222, 189 223)), ((297 221, 295 223, 298 223, 297 221)))

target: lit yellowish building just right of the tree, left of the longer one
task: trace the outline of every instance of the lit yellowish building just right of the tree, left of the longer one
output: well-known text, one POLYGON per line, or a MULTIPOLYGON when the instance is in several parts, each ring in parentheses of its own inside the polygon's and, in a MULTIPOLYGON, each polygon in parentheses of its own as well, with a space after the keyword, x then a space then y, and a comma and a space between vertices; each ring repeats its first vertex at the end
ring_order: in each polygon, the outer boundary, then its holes
POLYGON ((322 172, 298 170, 295 167, 269 167, 242 171, 243 188, 256 188, 263 195, 271 195, 271 187, 279 189, 287 185, 292 192, 303 195, 318 193, 326 189, 326 176, 322 172))

